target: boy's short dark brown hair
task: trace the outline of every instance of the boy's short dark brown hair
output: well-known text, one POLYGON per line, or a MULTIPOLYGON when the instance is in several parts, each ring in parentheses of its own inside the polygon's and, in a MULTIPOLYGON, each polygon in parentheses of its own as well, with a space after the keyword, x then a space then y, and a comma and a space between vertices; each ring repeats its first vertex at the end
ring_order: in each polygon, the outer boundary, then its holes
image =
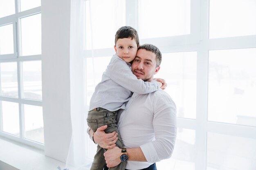
POLYGON ((134 38, 137 43, 137 47, 139 46, 139 35, 136 29, 131 26, 122 26, 117 30, 115 35, 115 46, 117 45, 117 40, 121 38, 131 38, 132 40, 134 38))

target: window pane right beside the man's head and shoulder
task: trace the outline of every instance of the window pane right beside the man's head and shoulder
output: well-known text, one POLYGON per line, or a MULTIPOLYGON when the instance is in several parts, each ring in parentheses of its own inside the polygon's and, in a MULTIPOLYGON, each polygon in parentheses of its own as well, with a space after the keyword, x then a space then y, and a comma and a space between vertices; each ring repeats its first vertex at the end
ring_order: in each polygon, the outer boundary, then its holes
POLYGON ((162 53, 162 63, 155 77, 166 80, 165 91, 177 106, 177 117, 195 119, 196 52, 162 53))

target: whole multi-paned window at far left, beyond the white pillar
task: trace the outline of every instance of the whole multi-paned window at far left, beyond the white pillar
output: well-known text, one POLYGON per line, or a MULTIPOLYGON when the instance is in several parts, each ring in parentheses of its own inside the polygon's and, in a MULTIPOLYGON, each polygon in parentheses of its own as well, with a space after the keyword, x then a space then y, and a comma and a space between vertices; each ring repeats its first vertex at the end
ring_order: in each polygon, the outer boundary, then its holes
POLYGON ((43 148, 40 0, 0 0, 0 135, 43 148))

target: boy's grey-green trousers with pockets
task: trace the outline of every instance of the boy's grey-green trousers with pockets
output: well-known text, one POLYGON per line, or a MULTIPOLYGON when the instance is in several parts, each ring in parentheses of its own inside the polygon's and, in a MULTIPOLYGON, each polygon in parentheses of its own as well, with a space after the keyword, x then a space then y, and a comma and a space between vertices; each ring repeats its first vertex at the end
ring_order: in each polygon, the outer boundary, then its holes
MULTIPOLYGON (((104 130, 106 133, 111 133, 114 131, 118 132, 116 117, 117 111, 109 111, 104 108, 97 108, 96 110, 94 109, 88 112, 87 124, 94 132, 96 132, 97 128, 104 125, 108 125, 108 128, 104 130)), ((118 140, 116 142, 116 146, 119 148, 124 148, 119 132, 117 137, 118 140)), ((90 170, 103 170, 104 166, 106 165, 105 157, 103 155, 105 151, 106 149, 103 149, 97 145, 97 152, 94 156, 90 170)), ((118 166, 109 168, 109 170, 124 170, 125 166, 126 162, 121 162, 118 166)))

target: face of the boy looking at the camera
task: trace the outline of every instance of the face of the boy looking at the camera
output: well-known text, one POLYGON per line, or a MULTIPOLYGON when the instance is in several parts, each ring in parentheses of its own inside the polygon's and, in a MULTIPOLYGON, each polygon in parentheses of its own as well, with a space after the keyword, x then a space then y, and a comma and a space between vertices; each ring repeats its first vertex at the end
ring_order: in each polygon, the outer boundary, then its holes
POLYGON ((114 48, 118 57, 126 63, 131 62, 135 58, 138 49, 135 39, 131 38, 118 39, 114 48))

